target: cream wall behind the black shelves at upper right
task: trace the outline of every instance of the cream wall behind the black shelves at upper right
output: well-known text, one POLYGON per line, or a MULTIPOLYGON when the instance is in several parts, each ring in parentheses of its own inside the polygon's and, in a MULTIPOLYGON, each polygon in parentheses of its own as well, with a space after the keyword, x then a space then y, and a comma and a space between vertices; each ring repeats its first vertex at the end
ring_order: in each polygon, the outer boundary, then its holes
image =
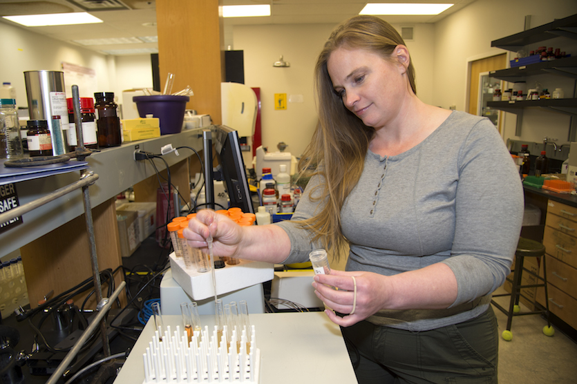
MULTIPOLYGON (((574 0, 477 0, 435 23, 434 104, 444 108, 456 105, 457 110, 466 111, 468 61, 505 52, 491 48, 491 41, 522 32, 525 15, 531 15, 534 28, 576 13, 574 0)), ((562 86, 565 97, 573 88, 573 81, 565 77, 539 77, 539 81, 549 88, 562 86)), ((567 142, 567 115, 526 109, 521 137, 515 137, 515 122, 515 115, 505 114, 504 140, 540 142, 549 136, 558 138, 560 144, 567 142)))

